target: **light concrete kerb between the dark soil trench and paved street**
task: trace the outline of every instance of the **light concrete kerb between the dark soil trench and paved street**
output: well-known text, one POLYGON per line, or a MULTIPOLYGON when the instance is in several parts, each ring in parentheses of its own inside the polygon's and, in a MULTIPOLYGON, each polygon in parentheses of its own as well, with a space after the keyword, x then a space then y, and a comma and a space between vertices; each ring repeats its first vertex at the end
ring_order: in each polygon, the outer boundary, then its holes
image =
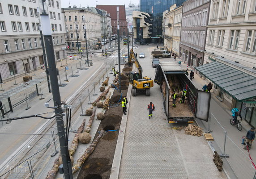
MULTIPOLYGON (((132 93, 132 85, 129 84, 128 91, 127 91, 127 97, 130 100, 131 100, 131 93, 132 93)), ((130 102, 128 103, 128 106, 127 106, 127 115, 123 114, 123 117, 122 117, 119 134, 118 134, 118 139, 117 139, 116 147, 115 147, 115 155, 114 155, 109 179, 118 179, 118 176, 119 176, 120 163, 121 163, 123 147, 124 147, 125 129, 126 129, 126 124, 127 124, 127 118, 129 115, 128 114, 129 106, 130 106, 130 102)))

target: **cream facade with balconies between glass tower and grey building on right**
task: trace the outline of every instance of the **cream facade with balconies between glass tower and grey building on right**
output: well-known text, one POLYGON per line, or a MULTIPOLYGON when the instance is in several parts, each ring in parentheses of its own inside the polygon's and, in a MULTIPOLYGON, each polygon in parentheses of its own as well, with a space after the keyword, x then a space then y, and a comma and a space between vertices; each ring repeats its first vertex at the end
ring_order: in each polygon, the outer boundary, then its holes
POLYGON ((164 47, 177 55, 179 54, 182 8, 182 5, 177 7, 173 4, 170 11, 163 13, 164 47))

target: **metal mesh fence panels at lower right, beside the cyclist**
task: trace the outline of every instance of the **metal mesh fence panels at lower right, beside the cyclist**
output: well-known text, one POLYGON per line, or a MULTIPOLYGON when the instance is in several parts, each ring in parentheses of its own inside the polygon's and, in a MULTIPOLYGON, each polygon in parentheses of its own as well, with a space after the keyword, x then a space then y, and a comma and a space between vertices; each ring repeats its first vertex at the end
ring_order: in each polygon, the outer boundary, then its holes
MULTIPOLYGON (((244 153, 246 150, 241 150, 239 146, 228 136, 227 131, 220 124, 220 122, 210 112, 208 121, 208 131, 214 137, 218 148, 215 149, 221 157, 225 157, 226 161, 234 171, 239 179, 256 179, 256 170, 252 165, 252 160, 248 154, 244 153), (221 135, 222 134, 222 135, 221 135)), ((225 166, 225 161, 223 161, 225 166)))

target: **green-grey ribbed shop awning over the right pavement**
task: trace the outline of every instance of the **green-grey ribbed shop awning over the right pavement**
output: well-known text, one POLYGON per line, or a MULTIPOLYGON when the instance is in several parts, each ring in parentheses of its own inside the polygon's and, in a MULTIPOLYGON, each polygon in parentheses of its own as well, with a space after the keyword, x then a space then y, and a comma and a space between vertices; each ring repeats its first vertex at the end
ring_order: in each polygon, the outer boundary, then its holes
POLYGON ((256 98, 256 77, 221 62, 212 62, 196 70, 220 87, 235 100, 256 98))

